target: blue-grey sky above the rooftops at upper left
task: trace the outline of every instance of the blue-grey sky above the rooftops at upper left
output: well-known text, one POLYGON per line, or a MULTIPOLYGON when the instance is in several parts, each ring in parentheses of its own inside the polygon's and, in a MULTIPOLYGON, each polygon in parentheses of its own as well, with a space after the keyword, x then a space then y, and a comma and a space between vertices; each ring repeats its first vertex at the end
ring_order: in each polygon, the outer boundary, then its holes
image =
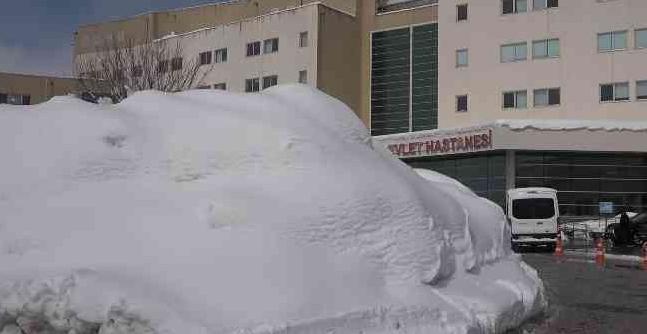
POLYGON ((69 75, 81 24, 218 0, 0 0, 0 72, 69 75))

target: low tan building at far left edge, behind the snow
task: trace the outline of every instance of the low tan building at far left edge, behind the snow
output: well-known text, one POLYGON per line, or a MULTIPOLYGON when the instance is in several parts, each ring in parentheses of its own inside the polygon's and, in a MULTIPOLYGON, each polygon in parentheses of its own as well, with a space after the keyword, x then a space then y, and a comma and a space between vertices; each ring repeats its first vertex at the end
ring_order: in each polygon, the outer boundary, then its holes
POLYGON ((30 104, 76 91, 76 79, 0 73, 0 94, 29 95, 30 104))

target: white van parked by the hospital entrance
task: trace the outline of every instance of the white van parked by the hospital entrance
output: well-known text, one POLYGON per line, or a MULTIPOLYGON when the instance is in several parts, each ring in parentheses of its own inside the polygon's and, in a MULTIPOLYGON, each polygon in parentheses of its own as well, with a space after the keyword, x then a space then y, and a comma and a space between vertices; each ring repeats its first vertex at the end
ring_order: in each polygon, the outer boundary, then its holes
POLYGON ((550 188, 508 190, 506 214, 512 230, 512 247, 557 244, 559 205, 557 191, 550 188))

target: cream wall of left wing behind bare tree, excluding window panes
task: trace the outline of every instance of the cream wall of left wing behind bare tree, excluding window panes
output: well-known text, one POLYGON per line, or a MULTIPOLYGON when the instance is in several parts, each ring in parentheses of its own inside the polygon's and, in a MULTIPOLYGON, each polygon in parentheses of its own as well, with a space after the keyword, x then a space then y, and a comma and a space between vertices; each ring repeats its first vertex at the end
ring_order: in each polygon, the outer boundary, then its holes
MULTIPOLYGON (((345 15, 345 14, 344 14, 345 15)), ((204 65, 196 86, 226 83, 227 90, 245 91, 245 80, 277 75, 278 83, 298 82, 299 71, 306 70, 309 83, 317 83, 318 6, 306 5, 273 14, 246 19, 215 28, 177 35, 185 60, 198 58, 201 52, 227 49, 227 61, 204 65), (308 32, 308 46, 299 47, 299 35, 308 32), (279 51, 263 53, 263 41, 278 38, 279 51), (261 42, 261 54, 247 57, 247 43, 261 42)), ((215 58, 214 58, 215 60, 215 58)))

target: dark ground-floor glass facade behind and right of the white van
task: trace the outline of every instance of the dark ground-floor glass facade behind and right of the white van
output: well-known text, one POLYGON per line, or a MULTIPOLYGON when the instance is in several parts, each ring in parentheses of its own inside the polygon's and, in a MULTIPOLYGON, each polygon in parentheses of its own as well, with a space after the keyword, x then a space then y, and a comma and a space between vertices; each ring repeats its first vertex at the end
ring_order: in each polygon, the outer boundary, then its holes
POLYGON ((517 152, 515 161, 516 187, 556 189, 563 216, 598 216, 600 202, 647 210, 647 154, 517 152))

